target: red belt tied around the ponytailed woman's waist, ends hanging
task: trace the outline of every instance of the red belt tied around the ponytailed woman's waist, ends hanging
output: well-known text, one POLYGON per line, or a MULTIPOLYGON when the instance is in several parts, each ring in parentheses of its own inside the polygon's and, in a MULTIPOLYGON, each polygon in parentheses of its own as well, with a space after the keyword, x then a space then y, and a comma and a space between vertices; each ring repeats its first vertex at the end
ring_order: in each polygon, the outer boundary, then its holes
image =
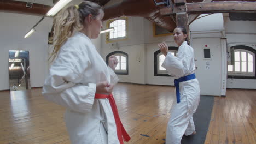
POLYGON ((95 99, 104 99, 104 98, 108 98, 110 106, 112 108, 112 112, 115 117, 115 125, 117 125, 117 135, 118 135, 118 140, 119 140, 120 144, 124 143, 122 136, 124 137, 124 140, 126 142, 128 142, 131 139, 131 137, 127 134, 127 132, 124 129, 124 126, 120 120, 118 110, 117 110, 117 105, 115 104, 113 95, 112 94, 105 95, 105 94, 97 94, 97 93, 95 94, 95 99))

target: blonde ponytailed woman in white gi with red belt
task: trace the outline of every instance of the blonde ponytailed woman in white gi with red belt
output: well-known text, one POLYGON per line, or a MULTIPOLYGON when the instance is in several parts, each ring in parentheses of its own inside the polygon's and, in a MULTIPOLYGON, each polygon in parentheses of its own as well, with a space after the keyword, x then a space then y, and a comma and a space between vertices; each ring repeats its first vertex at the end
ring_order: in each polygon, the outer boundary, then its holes
POLYGON ((91 42, 100 34, 103 16, 100 5, 83 1, 55 19, 52 56, 56 59, 42 93, 66 107, 65 122, 73 144, 116 144, 123 143, 123 137, 130 139, 111 94, 118 82, 113 71, 117 58, 111 56, 108 67, 91 42))

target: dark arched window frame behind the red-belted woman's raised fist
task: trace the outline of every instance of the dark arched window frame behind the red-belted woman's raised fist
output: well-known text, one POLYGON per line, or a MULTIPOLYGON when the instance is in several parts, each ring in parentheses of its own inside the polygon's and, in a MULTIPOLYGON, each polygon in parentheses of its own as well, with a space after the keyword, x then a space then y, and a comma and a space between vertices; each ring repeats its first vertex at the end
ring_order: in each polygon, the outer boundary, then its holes
MULTIPOLYGON (((128 59, 128 54, 123 52, 123 51, 114 51, 114 52, 111 52, 109 53, 107 56, 106 56, 106 63, 108 65, 108 58, 112 55, 118 55, 118 56, 124 56, 126 57, 126 70, 114 70, 115 74, 117 75, 128 75, 129 74, 129 59, 128 59)), ((121 57, 120 57, 121 58, 121 57)), ((121 67, 121 66, 120 66, 121 67)))

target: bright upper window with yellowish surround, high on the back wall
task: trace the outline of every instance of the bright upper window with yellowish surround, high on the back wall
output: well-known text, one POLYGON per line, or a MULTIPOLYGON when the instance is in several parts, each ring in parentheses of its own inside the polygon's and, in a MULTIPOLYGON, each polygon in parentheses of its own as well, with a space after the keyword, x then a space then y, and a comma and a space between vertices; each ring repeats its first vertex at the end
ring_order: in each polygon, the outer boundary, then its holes
POLYGON ((127 38, 127 18, 109 20, 107 27, 114 27, 114 31, 107 33, 107 43, 124 40, 127 38))

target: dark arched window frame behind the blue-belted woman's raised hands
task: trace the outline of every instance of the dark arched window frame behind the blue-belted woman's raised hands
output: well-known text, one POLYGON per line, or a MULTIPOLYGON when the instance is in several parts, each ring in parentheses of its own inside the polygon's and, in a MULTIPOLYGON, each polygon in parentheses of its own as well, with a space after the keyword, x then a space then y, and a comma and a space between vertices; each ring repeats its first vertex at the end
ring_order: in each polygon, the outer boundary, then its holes
MULTIPOLYGON (((177 56, 178 53, 178 47, 169 46, 168 47, 169 52, 174 52, 174 55, 177 56)), ((154 52, 154 76, 171 76, 167 73, 166 70, 160 70, 159 69, 159 56, 162 55, 161 51, 155 51, 154 52)))

